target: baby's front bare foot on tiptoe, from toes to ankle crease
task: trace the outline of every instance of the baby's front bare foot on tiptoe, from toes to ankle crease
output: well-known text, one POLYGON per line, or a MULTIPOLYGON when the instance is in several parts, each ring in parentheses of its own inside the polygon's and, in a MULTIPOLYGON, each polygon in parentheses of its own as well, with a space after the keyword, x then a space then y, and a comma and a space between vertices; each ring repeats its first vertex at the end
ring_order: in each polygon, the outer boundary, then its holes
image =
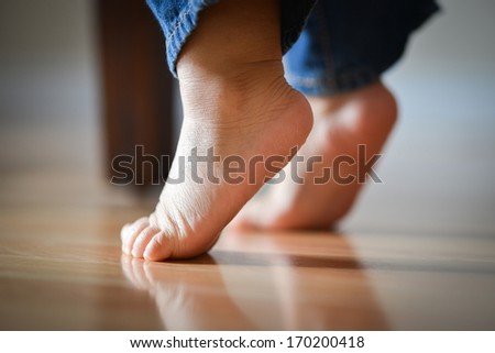
MULTIPOLYGON (((180 85, 183 88, 185 84, 180 85)), ((290 150, 302 144, 310 126, 305 98, 280 77, 264 76, 253 87, 245 91, 223 87, 217 92, 217 103, 210 99, 205 100, 210 107, 201 106, 197 110, 186 107, 169 176, 179 179, 183 174, 185 181, 165 185, 154 213, 123 228, 124 253, 157 261, 208 251, 265 178, 274 175, 275 170, 268 170, 265 161, 270 156, 283 156, 287 163, 290 150), (216 163, 213 169, 212 164, 199 163, 197 170, 193 170, 187 162, 191 153, 206 156, 209 148, 212 148, 210 155, 215 154, 221 162, 229 156, 241 158, 238 161, 245 163, 245 172, 229 180, 219 169, 221 163, 216 163), (177 163, 179 158, 186 165, 177 163), (238 177, 244 180, 238 184, 238 177)))

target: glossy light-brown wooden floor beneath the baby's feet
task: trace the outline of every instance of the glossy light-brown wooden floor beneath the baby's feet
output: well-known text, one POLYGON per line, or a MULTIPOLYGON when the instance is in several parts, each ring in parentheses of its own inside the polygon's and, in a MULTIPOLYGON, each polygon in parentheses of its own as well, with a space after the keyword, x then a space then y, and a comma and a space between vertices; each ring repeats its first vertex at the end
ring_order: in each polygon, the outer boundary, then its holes
POLYGON ((2 330, 495 329, 494 236, 226 232, 208 255, 145 263, 119 229, 153 195, 111 187, 75 148, 55 158, 69 135, 35 136, 0 152, 2 330))

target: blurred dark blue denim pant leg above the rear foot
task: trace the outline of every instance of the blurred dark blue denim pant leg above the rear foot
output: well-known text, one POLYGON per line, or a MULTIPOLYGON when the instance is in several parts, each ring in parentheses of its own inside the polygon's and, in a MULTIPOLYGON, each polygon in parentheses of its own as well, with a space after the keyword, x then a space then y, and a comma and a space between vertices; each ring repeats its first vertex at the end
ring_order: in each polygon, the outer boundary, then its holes
POLYGON ((285 55, 286 78, 306 95, 370 85, 402 57, 410 34, 438 10, 433 0, 319 0, 285 55))

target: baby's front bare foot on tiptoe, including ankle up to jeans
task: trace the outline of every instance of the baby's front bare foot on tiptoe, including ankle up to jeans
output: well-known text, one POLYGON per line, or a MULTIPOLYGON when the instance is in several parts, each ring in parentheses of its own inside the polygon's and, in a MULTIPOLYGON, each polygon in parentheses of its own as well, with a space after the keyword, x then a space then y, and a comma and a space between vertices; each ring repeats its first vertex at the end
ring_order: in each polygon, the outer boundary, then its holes
POLYGON ((277 2, 265 0, 202 13, 177 65, 185 118, 169 178, 185 180, 167 183, 155 211, 122 229, 124 253, 160 261, 208 251, 305 142, 311 111, 284 79, 277 19, 277 2), (191 163, 207 155, 210 163, 191 163), (221 166, 240 161, 244 168, 226 175, 221 166))

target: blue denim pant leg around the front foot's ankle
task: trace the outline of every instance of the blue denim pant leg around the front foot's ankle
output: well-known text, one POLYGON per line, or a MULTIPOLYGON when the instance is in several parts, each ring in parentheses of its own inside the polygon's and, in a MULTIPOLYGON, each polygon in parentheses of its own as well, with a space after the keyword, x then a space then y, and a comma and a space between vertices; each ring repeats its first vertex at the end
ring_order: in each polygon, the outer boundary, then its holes
MULTIPOLYGON (((280 47, 283 53, 286 53, 297 41, 316 1, 280 0, 280 47)), ((198 25, 201 11, 215 5, 219 0, 146 0, 146 2, 165 34, 168 68, 177 77, 177 58, 187 37, 198 25)))

